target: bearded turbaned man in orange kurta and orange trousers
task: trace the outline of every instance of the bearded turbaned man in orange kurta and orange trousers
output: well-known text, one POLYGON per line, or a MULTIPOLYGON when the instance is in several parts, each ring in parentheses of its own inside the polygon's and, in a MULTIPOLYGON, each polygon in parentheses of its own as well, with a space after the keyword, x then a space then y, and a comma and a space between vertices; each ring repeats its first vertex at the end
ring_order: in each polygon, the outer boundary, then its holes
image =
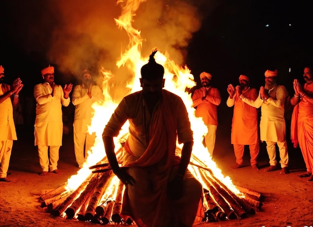
POLYGON ((244 145, 249 145, 250 164, 254 170, 257 167, 257 155, 259 152, 258 125, 256 108, 242 101, 245 97, 247 100, 255 100, 257 91, 249 87, 249 77, 246 75, 239 76, 239 85, 235 88, 232 84, 227 87, 229 94, 226 104, 233 107, 232 125, 231 125, 231 143, 236 157, 236 165, 233 168, 243 166, 244 145))

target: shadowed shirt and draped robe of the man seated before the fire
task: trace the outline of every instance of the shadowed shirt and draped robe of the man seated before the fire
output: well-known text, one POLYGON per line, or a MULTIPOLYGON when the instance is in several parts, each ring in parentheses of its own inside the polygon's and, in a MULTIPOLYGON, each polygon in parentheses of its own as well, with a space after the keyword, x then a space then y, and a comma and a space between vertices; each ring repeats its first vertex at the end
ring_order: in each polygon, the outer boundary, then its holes
POLYGON ((191 226, 198 213, 201 184, 186 171, 183 197, 171 201, 166 194, 167 182, 179 162, 175 155, 176 136, 179 143, 192 141, 186 108, 180 97, 163 89, 150 116, 141 93, 124 97, 103 131, 103 135, 116 136, 129 121, 122 164, 129 166, 130 175, 137 174, 133 177, 138 181, 127 186, 122 213, 132 216, 140 227, 169 226, 172 218, 191 226))

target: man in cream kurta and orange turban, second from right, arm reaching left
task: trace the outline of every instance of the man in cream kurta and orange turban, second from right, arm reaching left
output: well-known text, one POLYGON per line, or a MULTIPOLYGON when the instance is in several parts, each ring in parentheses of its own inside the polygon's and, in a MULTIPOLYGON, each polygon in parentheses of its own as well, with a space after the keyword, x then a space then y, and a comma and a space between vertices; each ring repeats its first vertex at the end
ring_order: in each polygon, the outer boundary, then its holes
POLYGON ((280 174, 289 173, 288 151, 286 144, 286 125, 284 121, 284 103, 288 92, 283 85, 277 84, 277 69, 266 70, 265 86, 261 86, 255 101, 242 97, 242 101, 256 108, 261 106, 260 139, 266 142, 269 167, 266 172, 277 169, 276 144, 280 155, 280 174))

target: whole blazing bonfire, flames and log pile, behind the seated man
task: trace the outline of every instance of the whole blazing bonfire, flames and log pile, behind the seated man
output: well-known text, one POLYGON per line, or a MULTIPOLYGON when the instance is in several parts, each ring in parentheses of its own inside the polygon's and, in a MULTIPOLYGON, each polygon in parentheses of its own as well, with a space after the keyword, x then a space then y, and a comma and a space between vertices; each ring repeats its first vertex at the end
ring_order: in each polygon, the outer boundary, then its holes
MULTIPOLYGON (((115 22, 119 28, 127 32, 129 45, 116 64, 118 67, 126 66, 132 72, 132 80, 127 84, 131 93, 140 90, 140 67, 147 62, 148 57, 141 56, 143 39, 140 37, 140 31, 133 28, 131 24, 132 16, 139 7, 140 1, 117 1, 120 2, 122 2, 121 15, 115 19, 115 22)), ((155 54, 155 60, 165 69, 164 88, 179 95, 188 111, 194 138, 188 169, 203 186, 202 200, 205 214, 203 221, 243 218, 248 214, 254 214, 262 206, 261 194, 233 185, 231 179, 221 173, 202 144, 202 136, 207 132, 207 128, 201 118, 195 117, 190 93, 186 92, 195 85, 190 70, 187 66, 177 65, 169 59, 166 52, 162 53, 161 50, 155 54)), ((42 191, 39 201, 41 207, 55 216, 101 224, 111 222, 131 224, 130 217, 120 214, 124 185, 108 166, 101 137, 106 122, 118 104, 112 100, 109 90, 110 79, 114 75, 104 68, 101 68, 100 72, 103 75, 102 90, 105 100, 93 106, 94 114, 89 126, 90 131, 96 132, 95 143, 88 151, 83 168, 72 175, 66 183, 42 191)), ((119 136, 114 138, 117 159, 122 153, 127 137, 127 123, 119 136)), ((177 143, 176 153, 179 155, 180 151, 181 146, 177 143)))

